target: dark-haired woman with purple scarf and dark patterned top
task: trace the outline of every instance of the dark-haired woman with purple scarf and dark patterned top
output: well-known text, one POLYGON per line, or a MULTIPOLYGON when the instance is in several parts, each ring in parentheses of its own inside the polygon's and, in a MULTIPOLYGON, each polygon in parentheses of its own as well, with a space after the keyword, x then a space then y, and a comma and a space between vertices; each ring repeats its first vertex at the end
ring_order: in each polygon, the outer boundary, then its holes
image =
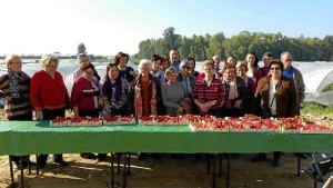
POLYGON ((115 63, 109 63, 103 79, 102 97, 104 101, 103 116, 127 116, 127 96, 129 82, 119 76, 115 63))

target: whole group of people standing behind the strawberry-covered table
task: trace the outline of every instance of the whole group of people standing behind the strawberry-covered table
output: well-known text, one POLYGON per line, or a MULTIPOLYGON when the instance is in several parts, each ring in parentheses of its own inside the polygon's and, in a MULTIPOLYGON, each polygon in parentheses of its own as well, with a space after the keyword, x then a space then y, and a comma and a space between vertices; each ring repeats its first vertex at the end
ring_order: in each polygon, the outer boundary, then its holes
MULTIPOLYGON (((194 58, 180 61, 178 50, 171 50, 169 58, 153 55, 151 59, 142 59, 135 72, 127 66, 129 55, 119 52, 114 62, 107 65, 105 77, 100 78, 89 57, 81 53, 69 95, 57 71, 58 57, 42 56, 42 70, 30 78, 22 71, 20 56, 9 55, 4 60, 8 73, 0 78, 0 97, 6 99, 8 120, 32 120, 33 111, 38 120, 52 120, 64 117, 69 103, 74 117, 300 115, 304 82, 301 72, 292 66, 292 55, 283 52, 280 60, 272 60, 268 52, 262 60, 264 66, 259 68, 258 56, 250 52, 243 62, 230 56, 220 66, 220 57, 214 56, 203 61, 202 71, 198 72, 194 58)), ((274 152, 274 166, 279 166, 280 155, 274 152)), ((81 157, 95 158, 93 154, 81 154, 81 157)), ((103 160, 107 155, 97 157, 103 160)), ((17 156, 10 159, 17 167, 24 166, 17 156)), ((39 155, 37 162, 44 167, 47 159, 48 155, 39 155)), ((253 158, 254 161, 264 159, 264 154, 253 158)), ((54 161, 67 165, 61 154, 54 155, 54 161)))

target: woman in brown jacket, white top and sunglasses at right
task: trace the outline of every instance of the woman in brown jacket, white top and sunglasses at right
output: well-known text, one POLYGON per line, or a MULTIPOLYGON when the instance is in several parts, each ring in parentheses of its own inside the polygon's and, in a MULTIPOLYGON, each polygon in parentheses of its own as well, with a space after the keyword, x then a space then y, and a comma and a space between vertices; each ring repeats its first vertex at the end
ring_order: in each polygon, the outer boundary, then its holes
MULTIPOLYGON (((279 60, 269 65, 270 75, 262 78, 254 95, 255 112, 263 118, 294 117, 297 115, 297 93, 294 82, 282 77, 283 63, 279 60)), ((281 152, 273 152, 273 166, 280 166, 281 152)), ((253 161, 265 160, 265 154, 259 154, 253 161)))

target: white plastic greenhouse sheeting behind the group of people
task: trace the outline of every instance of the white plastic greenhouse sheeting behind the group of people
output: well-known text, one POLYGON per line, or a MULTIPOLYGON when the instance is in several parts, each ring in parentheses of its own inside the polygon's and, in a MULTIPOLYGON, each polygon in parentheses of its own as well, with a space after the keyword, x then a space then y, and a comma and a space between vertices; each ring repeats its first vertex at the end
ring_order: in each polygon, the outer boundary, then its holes
MULTIPOLYGON (((30 77, 41 69, 38 60, 23 60, 23 71, 27 72, 30 77)), ((101 78, 107 73, 107 62, 99 63, 93 62, 95 69, 101 78)), ((137 71, 135 65, 129 62, 129 66, 134 68, 137 71)), ((222 66, 222 62, 221 62, 222 66)), ((333 82, 333 62, 297 62, 293 61, 293 66, 297 68, 304 79, 305 83, 305 93, 306 101, 315 101, 323 105, 333 105, 333 91, 332 92, 322 92, 322 90, 330 83, 333 82)), ((62 59, 59 62, 58 71, 61 72, 64 78, 65 86, 71 93, 71 88, 73 83, 73 72, 78 69, 79 65, 74 59, 62 59)), ((201 62, 196 63, 198 71, 201 71, 201 62)), ((0 63, 0 76, 6 73, 7 69, 3 63, 0 63)))

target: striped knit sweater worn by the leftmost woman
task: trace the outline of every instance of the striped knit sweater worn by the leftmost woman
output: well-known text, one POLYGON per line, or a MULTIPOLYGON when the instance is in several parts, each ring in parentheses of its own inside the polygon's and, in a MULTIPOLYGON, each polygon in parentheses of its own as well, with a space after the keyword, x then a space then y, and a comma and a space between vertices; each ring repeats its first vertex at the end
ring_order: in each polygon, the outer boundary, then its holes
MULTIPOLYGON (((6 98, 10 97, 10 88, 14 87, 11 81, 9 81, 9 76, 2 75, 0 77, 0 97, 6 98)), ((4 116, 8 120, 14 120, 21 116, 32 113, 31 103, 29 100, 29 89, 30 89, 30 78, 23 81, 18 82, 20 90, 20 101, 21 103, 13 105, 11 101, 4 102, 4 116)))

